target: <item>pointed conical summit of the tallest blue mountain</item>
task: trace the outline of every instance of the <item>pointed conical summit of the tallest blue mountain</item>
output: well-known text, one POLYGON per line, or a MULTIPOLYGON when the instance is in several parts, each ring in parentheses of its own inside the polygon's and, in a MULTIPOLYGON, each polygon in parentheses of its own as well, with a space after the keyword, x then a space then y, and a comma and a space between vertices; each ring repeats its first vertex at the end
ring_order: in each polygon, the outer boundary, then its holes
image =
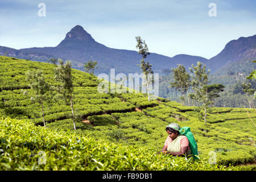
POLYGON ((77 25, 69 31, 65 39, 61 41, 61 43, 58 46, 67 46, 67 44, 77 44, 77 46, 80 46, 81 44, 87 44, 88 42, 95 42, 95 40, 92 38, 88 32, 82 28, 82 26, 77 25))

